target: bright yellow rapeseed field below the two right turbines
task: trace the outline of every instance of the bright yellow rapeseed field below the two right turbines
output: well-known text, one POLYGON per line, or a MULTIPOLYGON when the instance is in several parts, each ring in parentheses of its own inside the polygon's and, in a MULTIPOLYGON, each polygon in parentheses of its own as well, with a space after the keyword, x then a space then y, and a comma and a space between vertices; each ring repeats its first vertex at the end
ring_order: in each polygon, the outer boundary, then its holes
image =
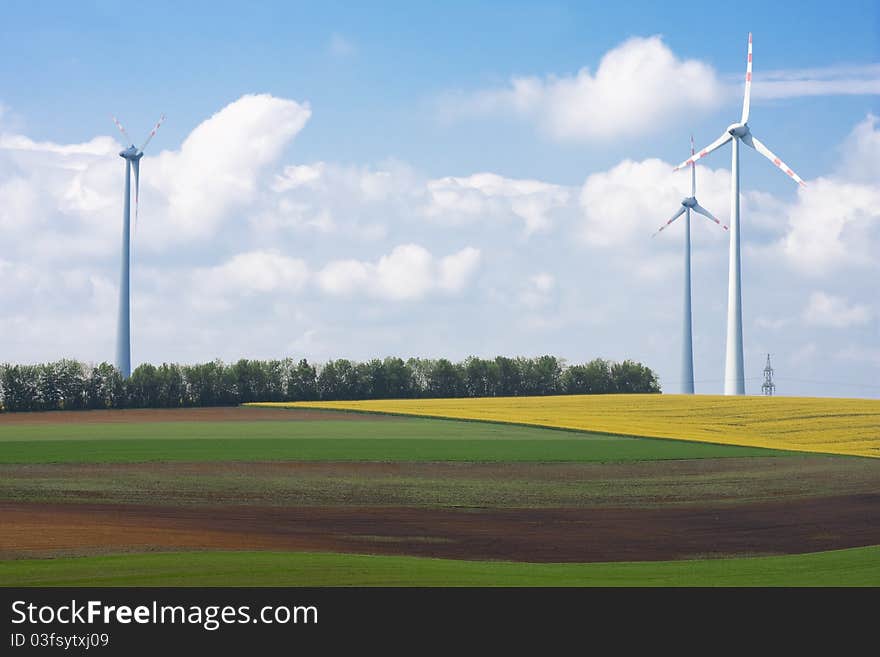
POLYGON ((262 404, 420 415, 880 458, 880 400, 566 395, 262 404))

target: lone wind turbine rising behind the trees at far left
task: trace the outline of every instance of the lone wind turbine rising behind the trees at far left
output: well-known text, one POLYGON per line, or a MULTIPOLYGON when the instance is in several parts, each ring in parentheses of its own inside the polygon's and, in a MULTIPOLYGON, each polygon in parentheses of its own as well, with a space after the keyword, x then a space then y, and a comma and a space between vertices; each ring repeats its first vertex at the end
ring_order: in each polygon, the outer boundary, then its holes
POLYGON ((120 151, 119 156, 125 159, 125 203, 122 210, 122 267, 119 279, 119 324, 116 334, 116 368, 127 379, 131 376, 131 293, 129 289, 130 265, 131 265, 131 171, 134 169, 134 225, 137 228, 138 194, 140 191, 140 163, 144 156, 144 149, 150 140, 156 136, 159 126, 165 120, 165 115, 159 119, 150 135, 140 148, 136 148, 131 137, 122 127, 122 124, 112 117, 113 123, 119 128, 122 136, 130 144, 128 148, 120 151))

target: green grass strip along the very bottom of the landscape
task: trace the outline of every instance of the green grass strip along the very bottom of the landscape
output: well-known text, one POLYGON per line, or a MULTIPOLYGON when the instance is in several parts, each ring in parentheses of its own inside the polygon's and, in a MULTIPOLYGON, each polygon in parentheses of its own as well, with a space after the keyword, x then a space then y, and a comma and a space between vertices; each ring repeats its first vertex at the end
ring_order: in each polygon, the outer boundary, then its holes
POLYGON ((0 581, 7 586, 880 586, 880 547, 590 564, 183 552, 5 561, 0 581))

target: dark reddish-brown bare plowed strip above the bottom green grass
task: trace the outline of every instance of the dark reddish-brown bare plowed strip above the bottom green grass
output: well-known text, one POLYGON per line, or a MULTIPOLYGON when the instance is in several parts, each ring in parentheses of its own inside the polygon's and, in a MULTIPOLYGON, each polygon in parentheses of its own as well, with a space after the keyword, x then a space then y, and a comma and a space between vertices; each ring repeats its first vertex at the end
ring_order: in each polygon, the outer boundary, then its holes
POLYGON ((0 504, 0 558, 315 550, 532 562, 802 553, 880 543, 880 494, 658 509, 0 504))

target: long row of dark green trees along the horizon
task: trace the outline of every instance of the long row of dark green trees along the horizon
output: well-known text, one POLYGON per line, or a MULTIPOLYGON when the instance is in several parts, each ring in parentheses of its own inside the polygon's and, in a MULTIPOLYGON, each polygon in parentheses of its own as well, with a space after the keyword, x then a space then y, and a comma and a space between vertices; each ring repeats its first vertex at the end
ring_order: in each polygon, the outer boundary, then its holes
POLYGON ((108 363, 0 365, 3 411, 232 406, 257 401, 513 397, 659 393, 656 374, 631 360, 567 365, 555 356, 494 359, 388 357, 356 362, 247 360, 140 365, 123 379, 108 363))

